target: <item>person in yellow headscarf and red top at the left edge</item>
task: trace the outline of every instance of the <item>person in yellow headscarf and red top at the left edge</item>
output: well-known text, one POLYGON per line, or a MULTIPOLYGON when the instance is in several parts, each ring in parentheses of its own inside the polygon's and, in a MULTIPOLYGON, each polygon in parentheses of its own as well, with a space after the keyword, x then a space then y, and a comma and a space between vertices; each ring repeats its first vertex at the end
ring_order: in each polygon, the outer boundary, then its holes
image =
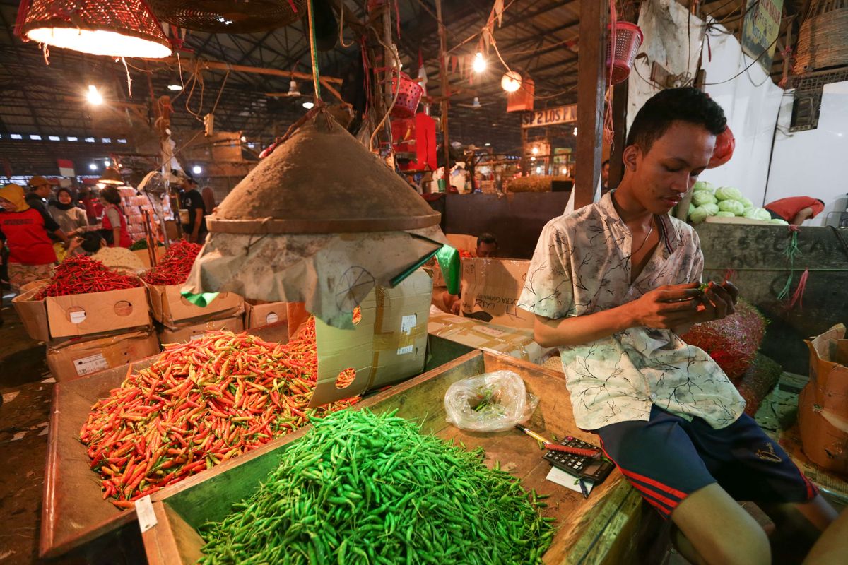
POLYGON ((56 252, 47 236, 42 213, 26 203, 18 185, 0 188, 0 231, 8 245, 8 280, 12 290, 33 280, 50 278, 56 252))

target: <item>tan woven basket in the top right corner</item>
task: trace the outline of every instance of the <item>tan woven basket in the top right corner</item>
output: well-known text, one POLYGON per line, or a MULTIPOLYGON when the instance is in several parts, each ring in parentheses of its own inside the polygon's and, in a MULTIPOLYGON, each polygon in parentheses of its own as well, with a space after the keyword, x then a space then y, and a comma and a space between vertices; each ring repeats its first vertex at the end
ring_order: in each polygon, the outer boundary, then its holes
POLYGON ((848 0, 813 4, 798 33, 795 75, 848 65, 848 0))

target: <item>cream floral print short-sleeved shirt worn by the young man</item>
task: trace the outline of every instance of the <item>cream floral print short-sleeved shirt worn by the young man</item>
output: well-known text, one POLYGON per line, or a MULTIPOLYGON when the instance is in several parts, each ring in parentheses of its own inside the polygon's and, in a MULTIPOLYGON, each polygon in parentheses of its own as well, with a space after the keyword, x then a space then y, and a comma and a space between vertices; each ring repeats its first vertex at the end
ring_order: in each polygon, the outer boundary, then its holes
MULTIPOLYGON (((704 256, 695 230, 667 215, 657 219, 660 244, 633 284, 633 240, 611 193, 550 220, 518 306, 550 319, 583 316, 661 285, 700 280, 704 256)), ((649 420, 654 404, 683 418, 703 418, 715 429, 733 424, 745 410, 745 400, 722 369, 672 330, 634 327, 560 352, 581 429, 649 420)))

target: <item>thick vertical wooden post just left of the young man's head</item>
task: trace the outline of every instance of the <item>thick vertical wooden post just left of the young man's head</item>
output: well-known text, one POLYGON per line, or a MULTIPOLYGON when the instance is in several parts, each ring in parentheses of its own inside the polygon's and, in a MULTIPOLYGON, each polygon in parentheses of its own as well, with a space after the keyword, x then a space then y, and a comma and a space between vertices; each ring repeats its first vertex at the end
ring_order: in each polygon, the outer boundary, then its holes
POLYGON ((580 49, 577 55, 577 174, 574 208, 592 203, 600 178, 604 125, 606 7, 602 2, 580 3, 580 49))

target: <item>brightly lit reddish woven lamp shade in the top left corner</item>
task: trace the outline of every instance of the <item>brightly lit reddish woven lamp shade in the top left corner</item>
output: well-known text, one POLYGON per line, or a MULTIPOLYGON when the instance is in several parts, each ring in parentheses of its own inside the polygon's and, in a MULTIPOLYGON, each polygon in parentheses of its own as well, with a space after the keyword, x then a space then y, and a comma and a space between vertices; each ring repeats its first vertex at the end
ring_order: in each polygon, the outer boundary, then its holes
POLYGON ((24 0, 20 36, 110 57, 164 58, 170 42, 143 0, 24 0))

